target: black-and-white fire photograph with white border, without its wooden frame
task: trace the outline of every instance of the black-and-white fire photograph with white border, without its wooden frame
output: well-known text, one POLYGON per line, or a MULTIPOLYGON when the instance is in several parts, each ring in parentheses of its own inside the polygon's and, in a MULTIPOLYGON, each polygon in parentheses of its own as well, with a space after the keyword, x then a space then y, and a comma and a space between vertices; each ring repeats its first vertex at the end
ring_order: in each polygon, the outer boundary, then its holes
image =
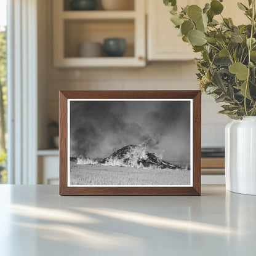
POLYGON ((191 100, 68 100, 68 186, 192 186, 191 100))

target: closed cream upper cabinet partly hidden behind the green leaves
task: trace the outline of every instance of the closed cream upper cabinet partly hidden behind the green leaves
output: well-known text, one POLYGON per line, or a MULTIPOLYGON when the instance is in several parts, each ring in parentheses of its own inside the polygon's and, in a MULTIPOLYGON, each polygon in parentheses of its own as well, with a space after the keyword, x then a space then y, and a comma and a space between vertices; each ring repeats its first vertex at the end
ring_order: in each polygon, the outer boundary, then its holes
MULTIPOLYGON (((205 0, 184 0, 178 2, 179 7, 197 4, 204 7, 205 0)), ((248 5, 247 0, 242 0, 248 5)), ((200 54, 193 52, 192 47, 182 41, 178 36, 179 31, 170 22, 170 7, 164 6, 162 1, 147 0, 147 56, 149 61, 179 61, 193 60, 200 57, 200 54)), ((225 0, 223 16, 233 18, 234 25, 248 23, 245 15, 238 9, 236 2, 225 0)), ((220 15, 215 16, 220 20, 220 15)))

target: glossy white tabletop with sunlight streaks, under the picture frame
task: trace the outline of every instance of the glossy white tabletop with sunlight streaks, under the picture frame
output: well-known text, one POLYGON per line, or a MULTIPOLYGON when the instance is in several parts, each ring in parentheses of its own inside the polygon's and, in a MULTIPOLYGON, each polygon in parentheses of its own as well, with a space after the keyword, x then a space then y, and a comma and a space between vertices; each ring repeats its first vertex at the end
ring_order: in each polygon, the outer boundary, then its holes
POLYGON ((59 196, 0 185, 0 255, 256 255, 256 196, 59 196))

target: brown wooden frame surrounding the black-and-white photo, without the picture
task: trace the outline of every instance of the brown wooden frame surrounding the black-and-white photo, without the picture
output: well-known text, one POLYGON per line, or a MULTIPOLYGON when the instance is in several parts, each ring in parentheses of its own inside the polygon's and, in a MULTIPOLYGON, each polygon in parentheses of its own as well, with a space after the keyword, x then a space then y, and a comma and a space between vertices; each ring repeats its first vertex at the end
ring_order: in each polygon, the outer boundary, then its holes
POLYGON ((199 90, 88 90, 60 91, 60 194, 116 196, 201 195, 201 91, 199 90), (68 187, 68 99, 193 99, 193 186, 72 186, 68 187))

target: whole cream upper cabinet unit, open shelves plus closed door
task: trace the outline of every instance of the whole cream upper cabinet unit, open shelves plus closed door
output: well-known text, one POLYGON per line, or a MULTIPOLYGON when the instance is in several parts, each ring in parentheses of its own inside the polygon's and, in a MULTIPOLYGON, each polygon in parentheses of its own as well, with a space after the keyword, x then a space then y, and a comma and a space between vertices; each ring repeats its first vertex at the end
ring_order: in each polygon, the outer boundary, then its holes
MULTIPOLYGON (((170 22, 170 7, 156 0, 127 1, 134 1, 133 10, 110 11, 100 7, 76 11, 70 10, 68 0, 53 1, 54 66, 142 67, 146 60, 182 61, 200 57, 178 36, 179 31, 170 22), (113 37, 126 39, 127 50, 123 57, 79 57, 82 42, 103 43, 103 39, 113 37)), ((241 2, 247 4, 247 0, 241 2)), ((184 0, 182 6, 198 4, 203 7, 205 3, 205 0, 184 0)), ((225 0, 222 4, 225 6, 223 16, 233 18, 234 24, 248 23, 234 1, 225 0)))

